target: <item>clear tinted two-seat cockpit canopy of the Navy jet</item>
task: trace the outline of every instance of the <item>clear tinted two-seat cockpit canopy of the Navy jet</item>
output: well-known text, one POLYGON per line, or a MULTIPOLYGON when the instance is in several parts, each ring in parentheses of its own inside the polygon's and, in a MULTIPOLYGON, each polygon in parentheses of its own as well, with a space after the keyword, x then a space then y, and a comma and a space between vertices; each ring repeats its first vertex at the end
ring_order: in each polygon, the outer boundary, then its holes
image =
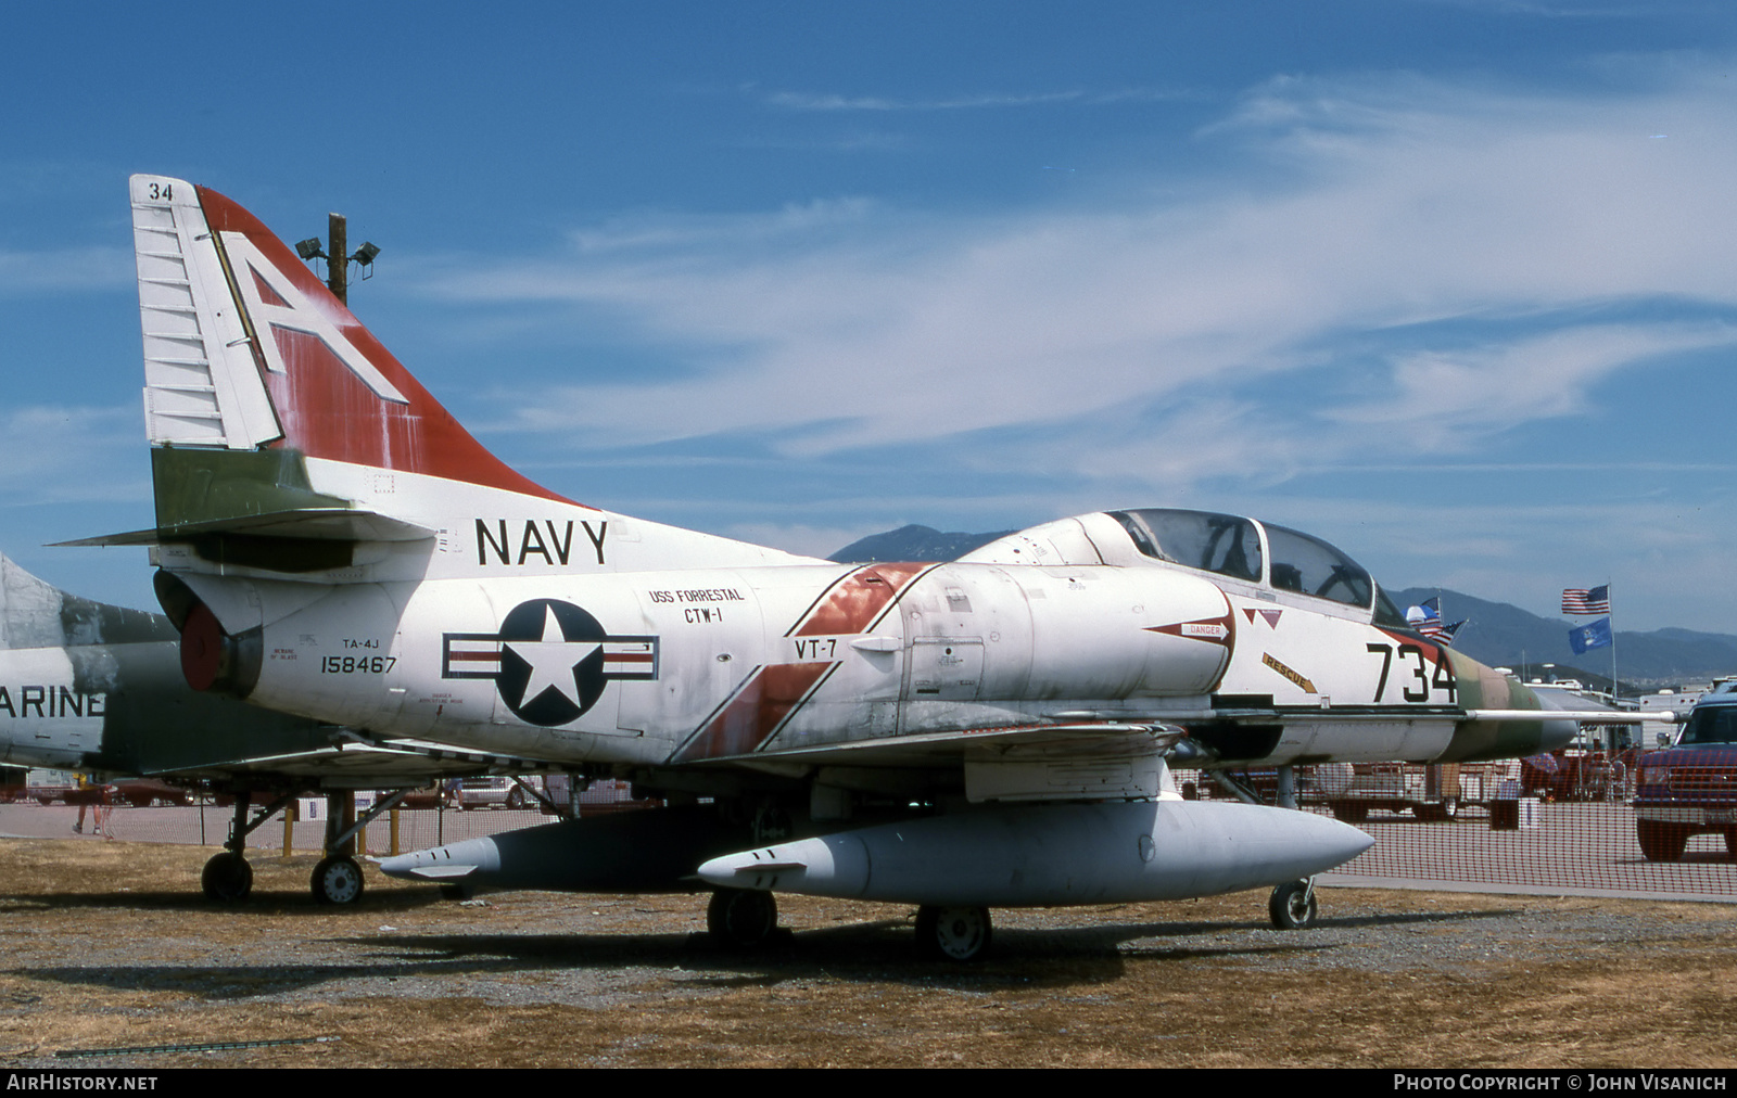
POLYGON ((1379 625, 1405 618, 1369 572, 1318 537, 1235 514, 1141 507, 1110 511, 1143 554, 1245 584, 1374 612, 1379 625))

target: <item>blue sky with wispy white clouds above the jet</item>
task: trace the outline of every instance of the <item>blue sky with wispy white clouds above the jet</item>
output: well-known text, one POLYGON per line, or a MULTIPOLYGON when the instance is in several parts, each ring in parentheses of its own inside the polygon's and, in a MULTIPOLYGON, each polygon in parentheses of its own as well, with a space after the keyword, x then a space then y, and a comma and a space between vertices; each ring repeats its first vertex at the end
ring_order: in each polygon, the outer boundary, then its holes
POLYGON ((816 554, 1207 507, 1390 587, 1728 629, 1730 5, 5 23, 0 551, 68 589, 151 605, 142 551, 42 546, 151 521, 125 177, 162 172, 287 240, 347 214, 356 314, 584 502, 816 554))

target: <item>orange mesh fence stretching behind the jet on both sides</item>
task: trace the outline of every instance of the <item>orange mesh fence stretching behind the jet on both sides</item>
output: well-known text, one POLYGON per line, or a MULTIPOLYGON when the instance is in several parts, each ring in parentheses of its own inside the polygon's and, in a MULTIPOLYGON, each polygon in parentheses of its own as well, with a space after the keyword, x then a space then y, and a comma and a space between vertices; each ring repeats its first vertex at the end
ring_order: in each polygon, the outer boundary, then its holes
MULTIPOLYGON (((1548 782, 1518 763, 1298 768, 1298 801, 1304 811, 1332 813, 1374 836, 1369 851, 1334 872, 1339 883, 1737 900, 1732 770, 1680 766, 1647 775, 1645 764, 1570 763, 1544 775, 1548 782)), ((1199 771, 1174 777, 1185 796, 1230 796, 1199 771)), ((1261 799, 1275 797, 1275 771, 1242 778, 1261 799)), ((85 834, 96 817, 87 813, 85 834)), ((115 839, 219 846, 233 811, 115 806, 106 817, 102 830, 115 839)), ((368 825, 361 853, 424 850, 554 818, 502 808, 400 810, 368 825)), ((69 837, 76 820, 76 806, 0 804, 0 834, 7 836, 69 837)), ((248 848, 318 853, 323 841, 321 820, 295 822, 285 836, 280 813, 248 836, 248 848)))

